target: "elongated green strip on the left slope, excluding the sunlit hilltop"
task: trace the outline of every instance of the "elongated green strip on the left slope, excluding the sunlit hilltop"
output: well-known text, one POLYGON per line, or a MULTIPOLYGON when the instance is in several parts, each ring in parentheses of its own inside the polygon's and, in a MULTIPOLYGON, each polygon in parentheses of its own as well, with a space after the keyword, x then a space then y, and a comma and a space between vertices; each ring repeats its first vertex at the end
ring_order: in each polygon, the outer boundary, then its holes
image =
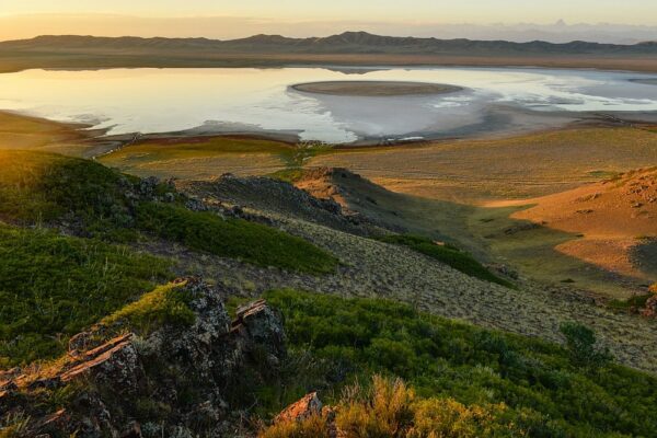
POLYGON ((142 203, 137 226, 161 238, 200 251, 239 258, 261 266, 312 274, 335 270, 337 260, 303 239, 241 219, 222 219, 211 212, 142 203))

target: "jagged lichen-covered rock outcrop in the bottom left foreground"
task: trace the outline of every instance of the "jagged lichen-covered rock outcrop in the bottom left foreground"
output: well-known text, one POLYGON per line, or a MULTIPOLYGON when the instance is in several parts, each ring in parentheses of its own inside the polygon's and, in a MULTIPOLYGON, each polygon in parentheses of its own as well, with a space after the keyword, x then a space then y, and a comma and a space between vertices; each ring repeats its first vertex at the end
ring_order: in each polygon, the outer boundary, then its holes
POLYGON ((96 326, 71 338, 51 367, 0 374, 0 412, 30 418, 16 436, 231 436, 247 392, 286 355, 281 320, 260 300, 231 321, 221 290, 183 281, 192 325, 150 334, 96 326), (115 331, 125 333, 107 338, 115 331), (68 400, 50 412, 43 402, 55 394, 68 400))

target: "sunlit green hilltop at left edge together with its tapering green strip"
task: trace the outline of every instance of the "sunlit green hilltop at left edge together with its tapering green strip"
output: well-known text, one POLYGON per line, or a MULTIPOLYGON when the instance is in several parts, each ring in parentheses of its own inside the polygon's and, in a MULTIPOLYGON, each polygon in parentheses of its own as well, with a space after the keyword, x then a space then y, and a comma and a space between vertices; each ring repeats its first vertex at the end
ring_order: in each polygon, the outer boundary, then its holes
MULTIPOLYGON (((324 274, 337 261, 304 241, 272 227, 223 220, 173 205, 137 203, 139 178, 102 164, 50 153, 0 151, 0 220, 19 224, 67 222, 82 235, 130 242, 155 233, 193 250, 261 266, 324 274)), ((157 195, 172 191, 159 185, 157 195)), ((182 198, 178 195, 178 198, 182 198)))

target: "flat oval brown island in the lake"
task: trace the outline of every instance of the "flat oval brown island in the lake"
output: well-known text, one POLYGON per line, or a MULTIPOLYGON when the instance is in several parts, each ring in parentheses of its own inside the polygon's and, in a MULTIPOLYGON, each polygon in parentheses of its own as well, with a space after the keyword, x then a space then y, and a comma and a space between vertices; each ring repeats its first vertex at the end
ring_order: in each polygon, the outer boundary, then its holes
POLYGON ((346 96, 395 96, 445 94, 462 90, 459 87, 427 82, 402 81, 327 81, 290 85, 296 91, 346 96))

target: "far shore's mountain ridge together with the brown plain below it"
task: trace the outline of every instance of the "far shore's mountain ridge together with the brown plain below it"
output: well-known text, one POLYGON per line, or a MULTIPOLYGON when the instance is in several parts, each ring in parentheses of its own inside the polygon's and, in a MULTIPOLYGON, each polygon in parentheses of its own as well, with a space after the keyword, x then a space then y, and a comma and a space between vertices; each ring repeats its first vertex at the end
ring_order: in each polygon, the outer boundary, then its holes
POLYGON ((366 32, 311 38, 255 35, 140 38, 45 35, 0 43, 0 70, 66 67, 238 67, 293 62, 354 65, 535 65, 657 70, 657 43, 613 45, 392 37, 366 32))

